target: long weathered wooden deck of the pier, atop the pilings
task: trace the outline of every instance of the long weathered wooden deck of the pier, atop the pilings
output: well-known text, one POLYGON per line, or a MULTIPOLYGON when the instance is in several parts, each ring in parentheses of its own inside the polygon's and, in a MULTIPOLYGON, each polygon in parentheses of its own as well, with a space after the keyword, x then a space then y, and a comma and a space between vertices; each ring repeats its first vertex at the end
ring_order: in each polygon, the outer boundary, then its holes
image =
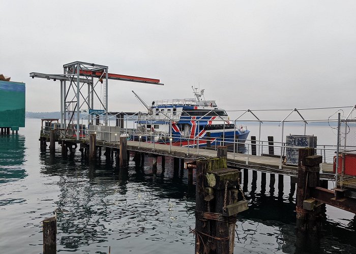
MULTIPOLYGON (((59 139, 61 140, 61 139, 59 139)), ((62 139, 66 142, 78 143, 75 139, 62 139)), ((80 143, 89 144, 88 139, 81 139, 80 143)), ((119 142, 105 142, 96 141, 97 146, 101 147, 112 147, 120 148, 119 142)), ((157 143, 146 143, 139 141, 127 141, 127 149, 130 151, 146 152, 157 155, 167 155, 179 158, 195 159, 195 158, 214 158, 217 155, 215 150, 204 149, 204 148, 188 148, 183 146, 169 146, 157 143)), ((280 158, 279 157, 269 157, 269 156, 257 156, 251 154, 243 153, 227 153, 227 164, 229 167, 233 168, 247 168, 251 170, 258 170, 268 173, 275 173, 281 175, 297 176, 298 167, 290 165, 282 165, 280 169, 280 158)), ((330 169, 332 169, 332 164, 323 163, 323 173, 320 173, 320 179, 323 180, 334 180, 334 175, 331 175, 330 169), (326 170, 325 170, 326 168, 326 170)))

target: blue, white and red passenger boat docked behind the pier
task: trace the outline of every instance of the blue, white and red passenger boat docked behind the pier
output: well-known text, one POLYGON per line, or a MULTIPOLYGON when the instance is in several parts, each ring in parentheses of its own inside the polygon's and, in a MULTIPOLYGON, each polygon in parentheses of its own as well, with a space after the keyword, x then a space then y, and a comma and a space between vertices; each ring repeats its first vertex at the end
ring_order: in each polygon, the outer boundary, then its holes
POLYGON ((148 110, 136 121, 135 140, 200 147, 227 145, 234 137, 244 143, 250 133, 246 126, 235 126, 215 101, 205 100, 204 90, 193 88, 193 99, 154 101, 151 106, 132 92, 148 110))

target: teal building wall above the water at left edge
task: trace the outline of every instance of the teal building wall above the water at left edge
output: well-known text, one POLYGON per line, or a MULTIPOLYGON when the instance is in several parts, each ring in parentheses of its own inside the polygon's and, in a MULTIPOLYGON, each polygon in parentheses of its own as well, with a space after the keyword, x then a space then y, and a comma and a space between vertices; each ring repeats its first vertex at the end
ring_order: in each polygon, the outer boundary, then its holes
POLYGON ((25 126, 25 83, 0 80, 0 127, 25 126))

